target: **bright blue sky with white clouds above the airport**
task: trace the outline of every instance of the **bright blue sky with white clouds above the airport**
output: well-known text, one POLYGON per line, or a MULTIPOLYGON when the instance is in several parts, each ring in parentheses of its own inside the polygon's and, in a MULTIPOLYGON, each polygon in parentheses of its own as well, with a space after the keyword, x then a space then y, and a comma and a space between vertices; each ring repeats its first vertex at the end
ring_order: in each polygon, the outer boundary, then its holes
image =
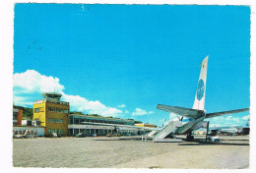
POLYGON ((207 112, 249 107, 249 7, 16 4, 14 102, 55 89, 71 110, 160 126, 170 115, 158 103, 192 107, 207 55, 207 112))

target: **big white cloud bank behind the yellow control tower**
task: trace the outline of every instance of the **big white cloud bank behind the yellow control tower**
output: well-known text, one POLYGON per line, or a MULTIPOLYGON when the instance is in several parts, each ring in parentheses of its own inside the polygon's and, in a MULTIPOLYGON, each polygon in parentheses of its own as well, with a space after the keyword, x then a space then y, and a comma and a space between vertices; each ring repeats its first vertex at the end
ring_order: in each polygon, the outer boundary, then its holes
POLYGON ((66 94, 63 91, 64 88, 59 83, 58 78, 46 77, 34 70, 28 70, 21 74, 16 73, 14 75, 14 102, 20 105, 32 105, 32 101, 35 100, 31 97, 32 93, 52 92, 55 90, 55 92, 62 94, 62 100, 70 102, 70 108, 73 111, 114 117, 120 117, 123 113, 122 110, 106 106, 98 100, 93 101, 80 95, 66 94), (21 93, 23 95, 26 93, 26 96, 19 95, 21 93))

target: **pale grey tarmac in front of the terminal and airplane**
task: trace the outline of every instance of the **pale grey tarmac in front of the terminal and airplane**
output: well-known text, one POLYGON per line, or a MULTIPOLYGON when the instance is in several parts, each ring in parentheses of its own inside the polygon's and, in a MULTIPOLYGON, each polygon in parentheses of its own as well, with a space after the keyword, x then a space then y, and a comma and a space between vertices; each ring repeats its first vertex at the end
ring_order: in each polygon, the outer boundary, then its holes
MULTIPOLYGON (((185 137, 178 137, 184 139, 185 137)), ((140 137, 13 139, 14 167, 51 168, 249 168, 249 136, 220 137, 219 144, 153 143, 140 137)))

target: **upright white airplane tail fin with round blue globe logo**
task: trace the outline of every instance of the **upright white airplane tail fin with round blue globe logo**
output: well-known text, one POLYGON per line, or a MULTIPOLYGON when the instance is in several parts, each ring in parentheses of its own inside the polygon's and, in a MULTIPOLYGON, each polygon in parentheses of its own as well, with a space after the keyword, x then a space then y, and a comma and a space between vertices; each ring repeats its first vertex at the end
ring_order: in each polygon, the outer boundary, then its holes
POLYGON ((205 109, 205 95, 206 95, 206 78, 208 67, 208 55, 202 61, 201 72, 197 84, 196 96, 193 105, 193 109, 204 110, 205 109))

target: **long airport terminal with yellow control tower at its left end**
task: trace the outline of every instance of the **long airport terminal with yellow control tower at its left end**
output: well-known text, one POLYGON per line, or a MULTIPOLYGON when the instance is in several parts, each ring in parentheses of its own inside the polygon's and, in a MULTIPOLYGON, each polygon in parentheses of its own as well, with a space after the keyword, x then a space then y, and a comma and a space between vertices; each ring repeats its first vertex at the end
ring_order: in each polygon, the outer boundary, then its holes
POLYGON ((60 93, 44 92, 42 96, 42 99, 33 102, 32 121, 39 122, 45 136, 134 136, 147 133, 147 129, 143 129, 147 126, 137 126, 133 119, 70 112, 70 103, 61 101, 60 93))

